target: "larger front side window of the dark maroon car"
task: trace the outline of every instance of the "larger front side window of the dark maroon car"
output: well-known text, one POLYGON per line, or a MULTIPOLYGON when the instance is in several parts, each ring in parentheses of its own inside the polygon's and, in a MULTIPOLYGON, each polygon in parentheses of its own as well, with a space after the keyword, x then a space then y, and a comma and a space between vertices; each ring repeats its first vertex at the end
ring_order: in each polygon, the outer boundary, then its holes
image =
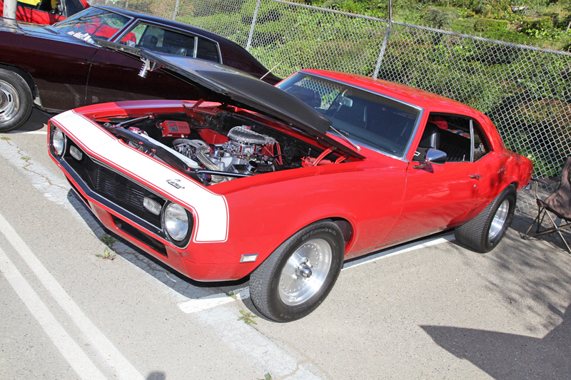
POLYGON ((121 43, 161 53, 193 57, 195 40, 194 36, 188 34, 138 24, 121 38, 121 43))

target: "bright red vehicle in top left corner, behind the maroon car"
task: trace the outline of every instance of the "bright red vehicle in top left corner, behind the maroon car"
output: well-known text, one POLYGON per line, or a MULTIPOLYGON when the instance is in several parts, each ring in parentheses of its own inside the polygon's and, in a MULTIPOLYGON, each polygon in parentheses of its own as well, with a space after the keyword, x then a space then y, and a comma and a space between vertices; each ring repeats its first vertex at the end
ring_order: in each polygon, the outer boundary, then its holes
MULTIPOLYGON (((86 0, 18 1, 16 20, 51 25, 87 8, 89 3, 86 0)), ((0 17, 3 14, 4 1, 0 0, 0 17)))

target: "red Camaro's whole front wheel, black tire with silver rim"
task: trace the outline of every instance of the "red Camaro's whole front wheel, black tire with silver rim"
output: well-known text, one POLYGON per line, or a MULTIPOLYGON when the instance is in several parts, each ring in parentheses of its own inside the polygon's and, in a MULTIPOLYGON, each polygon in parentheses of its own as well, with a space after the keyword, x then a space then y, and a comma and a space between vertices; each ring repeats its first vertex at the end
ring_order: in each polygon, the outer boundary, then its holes
POLYGON ((308 225, 285 240, 250 276, 254 306, 269 319, 290 322, 323 302, 343 266, 345 242, 335 223, 308 225))

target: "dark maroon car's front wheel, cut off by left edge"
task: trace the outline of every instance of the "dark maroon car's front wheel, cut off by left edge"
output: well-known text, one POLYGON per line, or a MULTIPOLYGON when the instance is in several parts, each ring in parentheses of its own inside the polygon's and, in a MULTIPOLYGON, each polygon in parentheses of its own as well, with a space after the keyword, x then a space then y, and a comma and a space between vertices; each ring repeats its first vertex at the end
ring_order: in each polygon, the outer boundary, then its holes
POLYGON ((28 120, 32 106, 31 91, 24 78, 0 68, 0 132, 8 132, 28 120))

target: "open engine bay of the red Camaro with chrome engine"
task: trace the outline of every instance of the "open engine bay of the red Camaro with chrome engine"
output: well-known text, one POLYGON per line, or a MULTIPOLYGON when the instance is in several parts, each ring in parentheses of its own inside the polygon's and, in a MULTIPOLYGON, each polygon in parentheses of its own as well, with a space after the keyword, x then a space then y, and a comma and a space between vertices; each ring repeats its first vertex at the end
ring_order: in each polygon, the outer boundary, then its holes
POLYGON ((124 143, 207 186, 278 170, 330 165, 348 158, 243 115, 184 110, 100 123, 124 143))

